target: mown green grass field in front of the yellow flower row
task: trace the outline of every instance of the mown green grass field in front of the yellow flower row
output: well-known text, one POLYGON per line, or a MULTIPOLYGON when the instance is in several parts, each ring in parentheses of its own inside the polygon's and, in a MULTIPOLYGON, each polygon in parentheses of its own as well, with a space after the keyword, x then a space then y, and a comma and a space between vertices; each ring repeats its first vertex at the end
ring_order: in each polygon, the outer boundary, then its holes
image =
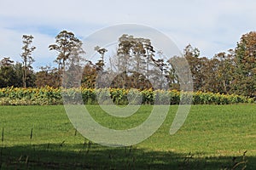
MULTIPOLYGON (((113 118, 98 105, 91 115, 105 127, 143 122, 152 106, 113 118)), ((192 105, 183 127, 169 134, 177 105, 153 136, 111 148, 84 139, 64 107, 0 106, 1 169, 256 169, 256 105, 192 105)))

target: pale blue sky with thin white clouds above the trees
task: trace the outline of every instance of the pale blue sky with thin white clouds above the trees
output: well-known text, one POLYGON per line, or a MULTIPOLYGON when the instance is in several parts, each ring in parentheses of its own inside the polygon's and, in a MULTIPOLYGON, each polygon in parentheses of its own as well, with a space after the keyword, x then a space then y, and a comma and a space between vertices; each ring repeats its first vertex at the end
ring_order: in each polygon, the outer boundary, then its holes
POLYGON ((201 56, 236 48, 241 35, 255 31, 253 0, 0 0, 0 59, 21 61, 22 35, 32 35, 35 70, 55 65, 49 44, 62 30, 84 39, 120 24, 149 26, 183 51, 189 43, 201 56))

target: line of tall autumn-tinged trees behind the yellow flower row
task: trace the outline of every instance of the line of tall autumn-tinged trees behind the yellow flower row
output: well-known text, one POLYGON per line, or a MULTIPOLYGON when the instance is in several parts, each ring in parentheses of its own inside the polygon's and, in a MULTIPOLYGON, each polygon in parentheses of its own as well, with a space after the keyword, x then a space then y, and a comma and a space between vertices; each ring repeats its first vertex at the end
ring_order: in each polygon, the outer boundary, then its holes
MULTIPOLYGON (((113 75, 108 88, 143 90, 167 86, 168 89, 180 89, 180 80, 172 58, 182 56, 165 56, 147 38, 124 34, 119 37, 113 56, 107 60, 105 55, 109 49, 97 46, 95 51, 98 60, 92 62, 83 57, 86 53, 82 48, 83 42, 73 32, 61 31, 55 37, 55 43, 49 45, 49 50, 57 52, 53 60, 58 66, 55 68, 45 65, 36 72, 32 68, 32 52, 36 49, 32 46, 32 39, 32 36, 23 36, 23 53, 20 54, 22 63, 15 63, 9 57, 1 60, 0 88, 59 88, 63 85, 61 79, 65 71, 68 71, 72 77, 67 77, 68 87, 105 87, 108 77, 104 75, 108 72, 108 75, 113 75), (81 80, 80 84, 73 81, 76 77, 81 80)), ((235 49, 215 54, 212 58, 202 57, 200 50, 189 44, 183 49, 183 57, 189 63, 194 91, 256 96, 256 32, 242 35, 235 49)))

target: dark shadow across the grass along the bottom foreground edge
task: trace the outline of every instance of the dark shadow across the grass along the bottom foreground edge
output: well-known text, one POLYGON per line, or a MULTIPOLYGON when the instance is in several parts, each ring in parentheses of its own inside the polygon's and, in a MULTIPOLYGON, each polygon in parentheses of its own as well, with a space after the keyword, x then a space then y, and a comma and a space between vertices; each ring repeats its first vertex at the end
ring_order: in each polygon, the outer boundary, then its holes
POLYGON ((38 144, 1 148, 1 169, 256 169, 255 156, 200 157, 98 144, 38 144), (247 162, 243 162, 247 161, 247 162))

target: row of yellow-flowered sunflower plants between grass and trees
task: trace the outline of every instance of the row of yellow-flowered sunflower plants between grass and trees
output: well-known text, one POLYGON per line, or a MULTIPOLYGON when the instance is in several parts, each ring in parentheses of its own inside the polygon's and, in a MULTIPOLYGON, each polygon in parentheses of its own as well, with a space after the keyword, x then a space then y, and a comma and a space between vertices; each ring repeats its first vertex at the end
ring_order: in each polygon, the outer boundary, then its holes
POLYGON ((78 103, 83 99, 84 104, 96 105, 114 103, 116 105, 140 104, 187 104, 189 99, 194 105, 229 105, 237 103, 253 103, 253 99, 235 94, 212 93, 183 93, 177 90, 138 91, 137 89, 121 88, 0 88, 0 105, 62 105, 62 96, 65 103, 78 103))

